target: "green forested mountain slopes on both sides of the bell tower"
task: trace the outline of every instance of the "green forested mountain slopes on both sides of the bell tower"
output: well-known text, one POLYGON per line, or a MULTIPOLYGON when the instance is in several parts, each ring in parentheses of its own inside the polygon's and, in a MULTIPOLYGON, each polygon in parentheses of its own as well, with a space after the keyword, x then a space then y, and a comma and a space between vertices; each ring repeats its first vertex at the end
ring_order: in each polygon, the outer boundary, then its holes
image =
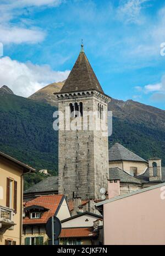
MULTIPOLYGON (((0 151, 37 170, 48 169, 49 173, 57 175, 58 132, 53 130, 53 112, 56 110, 51 105, 16 95, 0 95, 0 151)), ((122 111, 121 118, 113 118, 109 147, 119 142, 144 159, 162 158, 165 166, 165 132, 162 122, 157 121, 161 114, 156 115, 152 124, 150 115, 139 121, 138 113, 136 120, 131 112, 125 113, 124 118, 122 111), (160 125, 154 125, 156 121, 160 125)), ((25 175, 24 189, 43 178, 45 176, 40 173, 25 175)))

